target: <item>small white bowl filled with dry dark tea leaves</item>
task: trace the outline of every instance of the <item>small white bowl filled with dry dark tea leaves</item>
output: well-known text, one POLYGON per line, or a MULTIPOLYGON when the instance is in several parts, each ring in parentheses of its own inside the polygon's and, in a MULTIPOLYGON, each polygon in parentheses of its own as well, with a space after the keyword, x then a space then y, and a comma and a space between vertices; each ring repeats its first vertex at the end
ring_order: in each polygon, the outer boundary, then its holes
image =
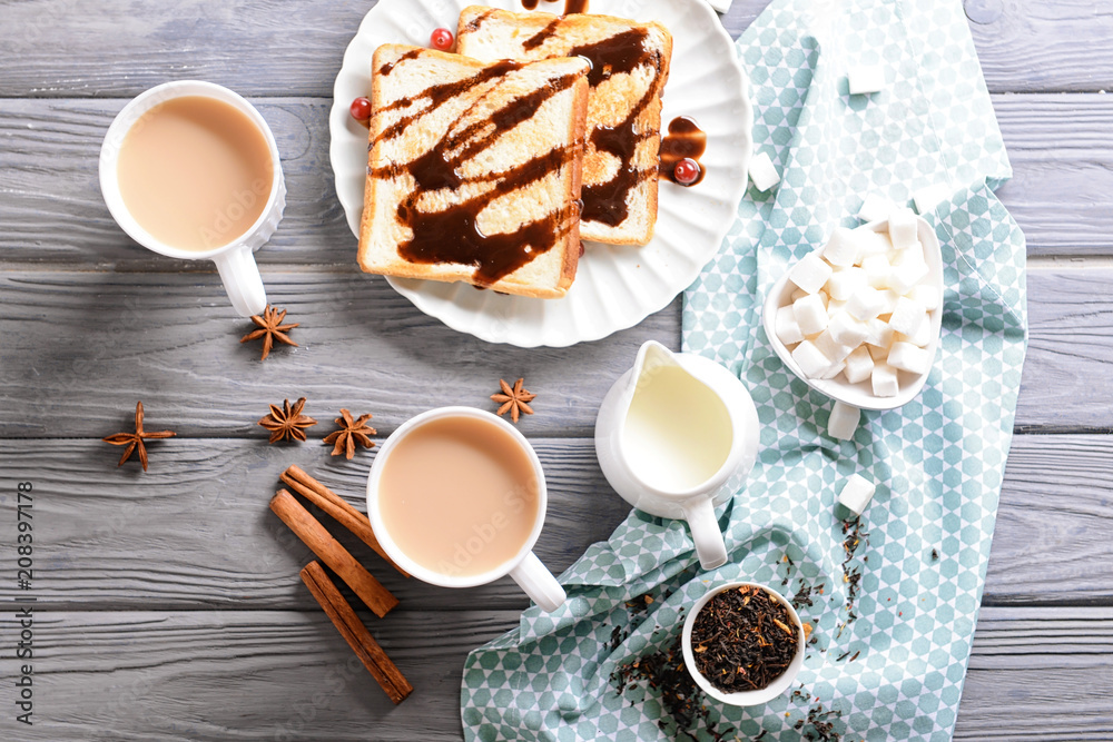
POLYGON ((688 672, 710 698, 735 706, 767 703, 804 665, 807 639, 792 604, 754 582, 731 582, 701 597, 684 620, 688 672))

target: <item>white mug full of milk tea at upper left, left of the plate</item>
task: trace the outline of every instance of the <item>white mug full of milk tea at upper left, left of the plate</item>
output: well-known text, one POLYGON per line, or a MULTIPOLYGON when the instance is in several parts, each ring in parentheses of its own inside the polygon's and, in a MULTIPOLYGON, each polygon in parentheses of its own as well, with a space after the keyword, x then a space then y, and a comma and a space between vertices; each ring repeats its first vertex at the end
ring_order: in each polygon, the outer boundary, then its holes
POLYGON ((209 259, 244 317, 267 305, 253 253, 286 206, 278 147, 255 107, 211 82, 166 82, 119 112, 100 148, 100 190, 132 239, 209 259))

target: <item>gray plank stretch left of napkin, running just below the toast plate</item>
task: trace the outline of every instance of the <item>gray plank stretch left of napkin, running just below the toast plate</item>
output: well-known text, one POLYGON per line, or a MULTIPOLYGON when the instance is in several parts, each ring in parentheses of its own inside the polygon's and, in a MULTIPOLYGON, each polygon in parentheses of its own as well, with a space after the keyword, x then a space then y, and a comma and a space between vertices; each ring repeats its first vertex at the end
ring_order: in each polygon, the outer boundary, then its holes
MULTIPOLYGON (((332 427, 341 407, 388 433, 418 412, 496 409, 499 378, 538 394, 531 435, 590 434, 611 384, 650 338, 679 346, 680 300, 634 328, 570 348, 492 345, 425 316, 378 276, 267 273, 270 299, 301 323, 266 362, 213 274, 0 274, 0 436, 101 437, 142 399, 179 435, 265 437, 270 403, 306 396, 332 427), (122 382, 122 383, 121 383, 122 382)), ((154 428, 152 428, 154 429, 154 428)))

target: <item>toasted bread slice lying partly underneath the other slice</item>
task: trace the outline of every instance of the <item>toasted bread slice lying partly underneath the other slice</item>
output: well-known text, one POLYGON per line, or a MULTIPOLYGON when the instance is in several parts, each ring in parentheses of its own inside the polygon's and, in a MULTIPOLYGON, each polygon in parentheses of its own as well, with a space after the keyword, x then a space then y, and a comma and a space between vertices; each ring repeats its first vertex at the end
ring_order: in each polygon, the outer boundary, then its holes
POLYGON ((592 69, 580 236, 614 245, 650 240, 661 93, 672 59, 668 29, 610 16, 560 18, 471 6, 460 13, 456 50, 484 61, 587 58, 592 69))

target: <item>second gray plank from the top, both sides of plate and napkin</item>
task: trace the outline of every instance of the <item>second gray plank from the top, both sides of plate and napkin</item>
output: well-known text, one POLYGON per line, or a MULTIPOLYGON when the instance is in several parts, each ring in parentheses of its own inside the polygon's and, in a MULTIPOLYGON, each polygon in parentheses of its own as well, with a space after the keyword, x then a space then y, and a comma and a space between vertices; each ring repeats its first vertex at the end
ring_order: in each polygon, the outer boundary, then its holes
MULTIPOLYGON (((258 254, 268 265, 356 270, 356 240, 336 200, 326 99, 257 100, 283 154, 289 190, 282 226, 258 254)), ((85 269, 207 270, 144 250, 112 221, 97 154, 122 100, 8 100, 0 110, 0 260, 85 269)), ((1001 198, 1030 255, 1113 254, 1113 101, 1105 96, 995 96, 1014 177, 1001 198), (1070 214, 1067 218, 1065 215, 1070 214)))

